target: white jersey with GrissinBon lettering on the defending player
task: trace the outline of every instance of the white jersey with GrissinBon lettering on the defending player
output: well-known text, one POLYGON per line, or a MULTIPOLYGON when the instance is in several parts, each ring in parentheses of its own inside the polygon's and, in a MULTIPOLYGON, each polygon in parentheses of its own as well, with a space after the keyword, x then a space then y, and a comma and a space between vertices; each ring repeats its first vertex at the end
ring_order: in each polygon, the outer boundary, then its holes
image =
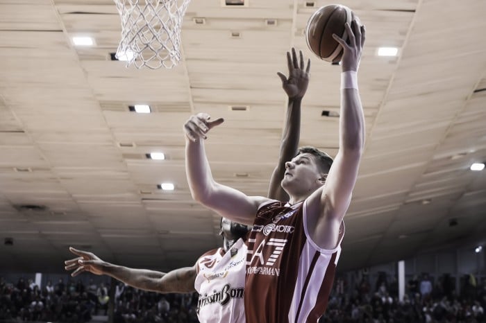
POLYGON ((199 293, 199 322, 246 322, 243 301, 246 250, 240 238, 226 253, 218 248, 197 260, 194 288, 199 293))

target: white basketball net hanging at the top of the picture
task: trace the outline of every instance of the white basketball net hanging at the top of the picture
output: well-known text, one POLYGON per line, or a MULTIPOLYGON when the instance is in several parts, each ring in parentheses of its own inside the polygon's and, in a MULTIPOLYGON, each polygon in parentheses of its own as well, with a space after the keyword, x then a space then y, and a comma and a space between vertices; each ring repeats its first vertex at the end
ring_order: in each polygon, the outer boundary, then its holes
POLYGON ((137 69, 171 69, 181 62, 181 26, 190 0, 113 1, 121 17, 118 60, 137 69))

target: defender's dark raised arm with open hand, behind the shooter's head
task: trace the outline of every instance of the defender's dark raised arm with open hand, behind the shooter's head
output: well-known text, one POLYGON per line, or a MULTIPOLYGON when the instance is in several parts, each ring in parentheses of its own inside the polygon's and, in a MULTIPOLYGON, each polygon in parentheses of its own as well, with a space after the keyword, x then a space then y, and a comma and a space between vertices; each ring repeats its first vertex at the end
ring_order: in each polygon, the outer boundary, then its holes
POLYGON ((289 69, 288 78, 283 73, 277 73, 280 80, 282 80, 282 87, 289 101, 285 114, 278 163, 271 175, 268 191, 269 198, 280 201, 289 200, 289 195, 284 191, 280 182, 282 182, 283 175, 285 174, 285 162, 290 161, 296 155, 299 145, 301 103, 309 85, 310 60, 307 62, 307 67, 305 67, 302 51, 299 51, 299 58, 297 58, 296 51, 292 48, 292 55, 287 51, 287 66, 289 69))

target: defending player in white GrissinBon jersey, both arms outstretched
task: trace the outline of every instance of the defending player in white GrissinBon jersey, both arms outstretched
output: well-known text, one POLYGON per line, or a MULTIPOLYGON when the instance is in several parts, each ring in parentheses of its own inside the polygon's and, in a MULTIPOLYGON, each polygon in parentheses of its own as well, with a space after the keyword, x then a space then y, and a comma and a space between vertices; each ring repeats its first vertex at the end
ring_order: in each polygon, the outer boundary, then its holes
MULTIPOLYGON (((309 84, 310 60, 303 68, 303 54, 297 58, 295 49, 287 52, 289 78, 278 72, 282 87, 288 96, 287 116, 280 145, 278 164, 269 185, 269 198, 288 200, 280 186, 285 173, 285 161, 290 160, 299 143, 301 101, 309 84), (298 61, 300 60, 300 66, 298 61)), ((246 245, 244 236, 249 227, 221 219, 223 248, 203 254, 192 267, 178 268, 171 272, 126 268, 102 261, 91 252, 69 250, 78 257, 65 261, 66 270, 106 274, 135 288, 158 293, 199 293, 198 318, 200 322, 244 323, 244 280, 246 245)))

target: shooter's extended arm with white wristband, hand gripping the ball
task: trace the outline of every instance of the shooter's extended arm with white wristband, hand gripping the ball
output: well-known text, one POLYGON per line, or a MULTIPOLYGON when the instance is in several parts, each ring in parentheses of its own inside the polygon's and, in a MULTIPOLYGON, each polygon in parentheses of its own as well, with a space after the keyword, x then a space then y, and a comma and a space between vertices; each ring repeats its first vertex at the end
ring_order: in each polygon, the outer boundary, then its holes
POLYGON ((333 35, 344 49, 341 61, 340 147, 328 174, 322 177, 324 185, 308 200, 308 230, 312 239, 324 249, 333 249, 339 241, 341 221, 351 202, 364 147, 364 115, 357 77, 364 26, 358 26, 353 20, 351 26, 346 23, 346 31, 349 44, 333 35))

